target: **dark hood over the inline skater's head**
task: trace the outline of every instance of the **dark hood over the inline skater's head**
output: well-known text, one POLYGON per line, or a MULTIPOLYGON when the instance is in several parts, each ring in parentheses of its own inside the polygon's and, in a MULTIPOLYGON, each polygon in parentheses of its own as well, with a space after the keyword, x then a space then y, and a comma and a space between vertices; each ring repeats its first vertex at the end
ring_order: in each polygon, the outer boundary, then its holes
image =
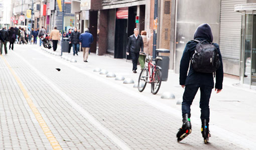
POLYGON ((213 41, 213 36, 211 32, 211 26, 208 23, 203 23, 199 25, 196 28, 195 34, 194 34, 194 39, 196 38, 204 38, 208 39, 211 42, 213 41))

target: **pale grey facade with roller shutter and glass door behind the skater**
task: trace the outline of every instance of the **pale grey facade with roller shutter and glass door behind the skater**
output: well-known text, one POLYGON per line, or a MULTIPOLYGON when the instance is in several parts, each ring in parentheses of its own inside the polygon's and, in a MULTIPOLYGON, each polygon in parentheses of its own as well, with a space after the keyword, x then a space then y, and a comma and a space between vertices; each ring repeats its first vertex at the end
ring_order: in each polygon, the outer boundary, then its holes
POLYGON ((173 57, 170 55, 170 66, 173 63, 175 72, 179 72, 183 50, 193 39, 196 27, 208 23, 212 28, 213 42, 220 46, 224 73, 240 76, 240 83, 256 88, 256 0, 172 2, 176 10, 175 27, 170 27, 173 30, 170 49, 174 49, 173 57))

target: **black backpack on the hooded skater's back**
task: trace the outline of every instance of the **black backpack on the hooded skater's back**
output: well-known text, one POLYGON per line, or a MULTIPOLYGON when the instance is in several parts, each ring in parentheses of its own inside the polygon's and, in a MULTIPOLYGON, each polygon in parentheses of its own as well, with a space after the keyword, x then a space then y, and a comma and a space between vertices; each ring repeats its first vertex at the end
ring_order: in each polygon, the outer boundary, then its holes
POLYGON ((191 58, 193 69, 197 72, 213 73, 220 66, 217 48, 208 40, 192 40, 198 42, 191 58), (206 42, 205 42, 206 41, 206 42), (204 43, 205 42, 205 43, 204 43))

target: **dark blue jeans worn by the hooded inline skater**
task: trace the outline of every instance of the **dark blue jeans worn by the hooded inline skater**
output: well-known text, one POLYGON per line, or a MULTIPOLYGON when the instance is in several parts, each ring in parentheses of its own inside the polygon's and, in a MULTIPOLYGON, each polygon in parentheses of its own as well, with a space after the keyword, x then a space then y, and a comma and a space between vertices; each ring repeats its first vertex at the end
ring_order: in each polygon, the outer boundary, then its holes
POLYGON ((190 105, 195 98, 198 88, 200 87, 201 97, 200 97, 200 108, 201 108, 201 119, 210 118, 209 100, 211 96, 212 87, 208 85, 200 84, 189 84, 185 86, 185 91, 183 94, 182 101, 182 114, 190 114, 190 105))

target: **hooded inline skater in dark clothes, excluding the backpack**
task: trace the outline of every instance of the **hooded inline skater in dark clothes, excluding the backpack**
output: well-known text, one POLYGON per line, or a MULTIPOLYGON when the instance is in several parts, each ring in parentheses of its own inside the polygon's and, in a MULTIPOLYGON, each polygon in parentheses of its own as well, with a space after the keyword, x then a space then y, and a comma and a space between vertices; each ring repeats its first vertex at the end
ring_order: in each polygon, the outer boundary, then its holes
MULTIPOLYGON (((206 43, 208 44, 212 43, 213 36, 212 36, 210 25, 207 23, 199 25, 195 31, 194 39, 197 39, 200 41, 207 40, 205 41, 206 43)), ((209 137, 209 127, 208 127, 209 118, 210 118, 209 99, 211 96, 212 88, 214 87, 213 73, 196 72, 193 69, 192 64, 190 64, 190 68, 189 68, 189 63, 192 55, 195 52, 196 45, 197 45, 197 42, 192 40, 186 44, 186 47, 184 49, 181 62, 180 62, 180 85, 183 88, 185 87, 185 91, 183 94, 183 102, 182 102, 183 125, 180 128, 180 131, 177 133, 178 141, 179 141, 179 137, 181 138, 180 132, 184 131, 186 132, 186 135, 188 135, 191 132, 190 105, 192 104, 192 101, 199 88, 201 91, 200 108, 201 108, 201 120, 202 120, 202 134, 203 134, 203 137, 204 137, 204 134, 207 134, 207 136, 209 137), (189 73, 187 75, 188 68, 189 68, 189 73)), ((217 93, 219 93, 222 89, 223 65, 222 65, 222 58, 219 50, 219 45, 216 43, 213 43, 213 45, 217 48, 219 59, 221 62, 220 67, 216 70, 216 83, 215 83, 215 91, 217 90, 217 93)))

